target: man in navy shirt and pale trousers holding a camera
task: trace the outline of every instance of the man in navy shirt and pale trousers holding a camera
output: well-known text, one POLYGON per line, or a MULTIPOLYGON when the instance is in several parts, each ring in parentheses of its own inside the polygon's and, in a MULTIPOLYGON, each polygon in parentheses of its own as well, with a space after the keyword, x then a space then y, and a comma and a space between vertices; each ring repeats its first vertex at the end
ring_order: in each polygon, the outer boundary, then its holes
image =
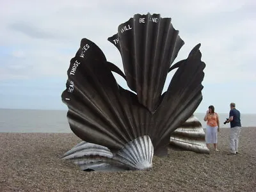
POLYGON ((240 112, 236 109, 236 104, 234 102, 230 103, 230 112, 229 118, 226 121, 230 122, 230 149, 231 154, 238 153, 238 141, 239 134, 241 132, 241 120, 240 120, 240 112))

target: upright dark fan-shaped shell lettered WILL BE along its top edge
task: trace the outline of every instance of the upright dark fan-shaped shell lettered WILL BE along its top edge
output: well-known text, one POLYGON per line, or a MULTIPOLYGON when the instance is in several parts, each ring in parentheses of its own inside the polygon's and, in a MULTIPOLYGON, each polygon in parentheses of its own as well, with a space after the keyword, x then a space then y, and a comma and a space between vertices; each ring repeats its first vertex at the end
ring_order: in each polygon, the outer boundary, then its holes
POLYGON ((127 84, 152 113, 159 104, 168 69, 184 45, 170 18, 140 15, 118 27, 108 38, 119 49, 127 84))

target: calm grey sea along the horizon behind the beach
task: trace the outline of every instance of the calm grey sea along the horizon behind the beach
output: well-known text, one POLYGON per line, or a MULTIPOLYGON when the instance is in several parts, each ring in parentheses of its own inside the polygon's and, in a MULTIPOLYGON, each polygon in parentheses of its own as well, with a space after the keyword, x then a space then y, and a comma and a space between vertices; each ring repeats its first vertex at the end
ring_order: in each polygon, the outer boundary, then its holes
MULTIPOLYGON (((194 114, 205 128, 205 113, 194 114)), ((228 113, 218 113, 220 127, 228 113)), ((243 127, 256 127, 256 114, 241 114, 243 127)), ((0 109, 0 132, 72 132, 67 120, 67 111, 37 109, 0 109)))

